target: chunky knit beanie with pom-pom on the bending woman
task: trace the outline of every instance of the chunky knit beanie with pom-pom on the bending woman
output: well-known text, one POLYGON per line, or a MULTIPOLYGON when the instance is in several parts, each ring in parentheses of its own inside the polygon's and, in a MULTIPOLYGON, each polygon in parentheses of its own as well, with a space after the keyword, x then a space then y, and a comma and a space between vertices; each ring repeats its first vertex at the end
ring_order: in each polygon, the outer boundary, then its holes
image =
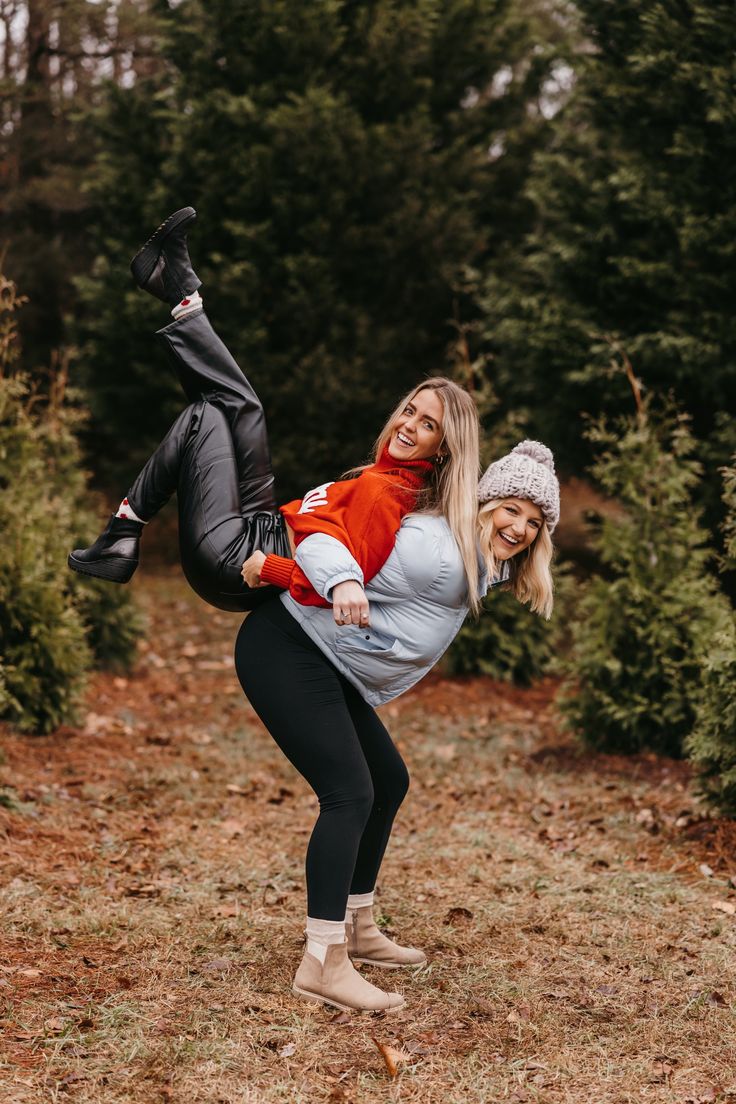
POLYGON ((540 440, 521 440, 506 456, 486 469, 478 484, 478 501, 527 498, 542 510, 552 532, 559 521, 559 484, 555 460, 540 440))

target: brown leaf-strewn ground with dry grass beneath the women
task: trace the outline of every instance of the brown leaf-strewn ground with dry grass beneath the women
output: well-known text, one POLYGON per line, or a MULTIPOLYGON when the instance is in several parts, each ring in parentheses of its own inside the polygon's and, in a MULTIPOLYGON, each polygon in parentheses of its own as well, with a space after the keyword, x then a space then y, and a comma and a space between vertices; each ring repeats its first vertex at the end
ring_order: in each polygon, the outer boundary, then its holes
POLYGON ((290 992, 314 799, 178 572, 78 728, 1 733, 0 1101, 736 1102, 736 830, 684 764, 580 755, 555 686, 383 710, 413 785, 378 887, 392 1017, 290 992), (393 1074, 393 1075, 392 1075, 393 1074))

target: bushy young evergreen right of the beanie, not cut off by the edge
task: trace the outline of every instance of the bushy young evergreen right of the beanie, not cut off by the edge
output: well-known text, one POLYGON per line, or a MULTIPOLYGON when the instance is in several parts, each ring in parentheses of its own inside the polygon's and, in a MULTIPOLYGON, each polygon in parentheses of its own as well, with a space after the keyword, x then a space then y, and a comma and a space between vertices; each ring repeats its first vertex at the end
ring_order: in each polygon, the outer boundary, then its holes
POLYGON ((704 657, 730 619, 693 505, 693 438, 684 417, 643 405, 589 435, 602 449, 594 475, 621 510, 595 537, 601 574, 577 605, 561 707, 589 746, 681 755, 704 657))

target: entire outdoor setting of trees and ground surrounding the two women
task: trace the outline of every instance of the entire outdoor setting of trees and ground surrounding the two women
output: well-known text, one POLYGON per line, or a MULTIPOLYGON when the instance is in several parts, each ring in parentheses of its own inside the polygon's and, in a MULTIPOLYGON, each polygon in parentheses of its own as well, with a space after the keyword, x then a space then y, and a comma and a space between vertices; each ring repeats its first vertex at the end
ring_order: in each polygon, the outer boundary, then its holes
POLYGON ((735 59, 732 0, 0 0, 3 1100, 736 1097, 735 59), (180 408, 183 204, 282 500, 425 373, 563 478, 552 622, 382 711, 391 1023, 290 994, 314 803, 173 512, 66 566, 180 408))

